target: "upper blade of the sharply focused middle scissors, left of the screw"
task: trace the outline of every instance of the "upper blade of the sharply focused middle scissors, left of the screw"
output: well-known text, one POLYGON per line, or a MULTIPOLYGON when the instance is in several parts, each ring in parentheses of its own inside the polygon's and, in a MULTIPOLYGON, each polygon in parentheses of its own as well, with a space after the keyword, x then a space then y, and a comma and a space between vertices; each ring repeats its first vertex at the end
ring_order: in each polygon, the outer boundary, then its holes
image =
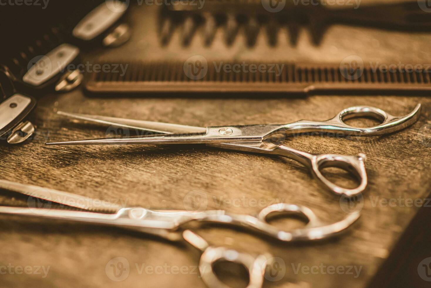
POLYGON ((156 133, 162 134, 172 134, 172 133, 205 133, 205 127, 196 127, 196 126, 188 126, 188 125, 179 125, 172 123, 163 123, 163 122, 153 122, 153 121, 144 121, 144 120, 134 120, 134 119, 126 119, 126 118, 116 118, 116 117, 107 117, 100 115, 90 115, 90 114, 80 114, 80 113, 69 113, 58 111, 57 114, 80 119, 88 122, 99 123, 103 125, 112 125, 116 127, 128 128, 139 131, 152 131, 156 133))

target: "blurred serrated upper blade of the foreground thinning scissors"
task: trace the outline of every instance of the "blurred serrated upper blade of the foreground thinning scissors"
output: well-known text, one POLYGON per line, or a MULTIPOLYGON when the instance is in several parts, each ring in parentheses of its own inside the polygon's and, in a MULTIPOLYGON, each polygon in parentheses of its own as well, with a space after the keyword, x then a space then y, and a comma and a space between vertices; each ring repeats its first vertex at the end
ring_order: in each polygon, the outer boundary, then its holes
POLYGON ((70 207, 85 209, 85 210, 103 210, 112 211, 112 213, 117 212, 121 208, 120 205, 113 203, 103 203, 102 201, 95 200, 89 197, 84 197, 81 195, 63 192, 59 190, 54 190, 50 188, 44 188, 40 186, 10 182, 6 180, 0 180, 0 188, 8 191, 17 192, 20 194, 28 195, 30 197, 35 197, 43 200, 48 200, 51 202, 67 205, 70 207))

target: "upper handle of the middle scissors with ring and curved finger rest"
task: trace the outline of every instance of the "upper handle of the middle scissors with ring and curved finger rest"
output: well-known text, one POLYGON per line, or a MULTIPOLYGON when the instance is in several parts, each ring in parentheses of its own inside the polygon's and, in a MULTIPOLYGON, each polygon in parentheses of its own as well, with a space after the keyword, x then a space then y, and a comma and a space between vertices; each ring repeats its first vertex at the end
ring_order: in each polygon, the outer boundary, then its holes
POLYGON ((416 105, 415 109, 405 116, 392 116, 381 109, 372 106, 353 106, 344 109, 334 118, 321 121, 305 121, 286 124, 287 135, 297 135, 303 132, 325 132, 325 133, 341 133, 344 136, 378 136, 400 131, 413 123, 415 123, 421 115, 421 104, 416 105), (381 124, 361 128, 347 125, 344 121, 355 117, 372 117, 381 124))

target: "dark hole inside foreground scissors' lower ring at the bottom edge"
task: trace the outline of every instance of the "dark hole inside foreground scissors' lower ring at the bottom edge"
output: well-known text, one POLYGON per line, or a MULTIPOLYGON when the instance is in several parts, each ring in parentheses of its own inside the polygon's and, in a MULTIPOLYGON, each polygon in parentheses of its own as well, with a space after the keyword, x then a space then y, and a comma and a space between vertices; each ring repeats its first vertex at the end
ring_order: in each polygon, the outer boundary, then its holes
POLYGON ((241 263, 217 260, 212 263, 212 270, 217 278, 228 287, 245 288, 250 284, 248 269, 241 263))

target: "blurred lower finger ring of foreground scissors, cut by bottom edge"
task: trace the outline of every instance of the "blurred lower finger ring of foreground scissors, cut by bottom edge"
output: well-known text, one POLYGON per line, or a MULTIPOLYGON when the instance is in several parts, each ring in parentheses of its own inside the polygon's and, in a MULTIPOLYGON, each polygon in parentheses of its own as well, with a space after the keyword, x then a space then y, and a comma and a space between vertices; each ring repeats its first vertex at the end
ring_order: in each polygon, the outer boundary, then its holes
POLYGON ((247 253, 241 253, 226 247, 207 247, 199 261, 199 272, 203 282, 209 288, 230 288, 219 280, 214 272, 214 264, 218 261, 237 263, 247 269, 249 282, 247 288, 261 288, 264 281, 267 256, 253 257, 247 253))

